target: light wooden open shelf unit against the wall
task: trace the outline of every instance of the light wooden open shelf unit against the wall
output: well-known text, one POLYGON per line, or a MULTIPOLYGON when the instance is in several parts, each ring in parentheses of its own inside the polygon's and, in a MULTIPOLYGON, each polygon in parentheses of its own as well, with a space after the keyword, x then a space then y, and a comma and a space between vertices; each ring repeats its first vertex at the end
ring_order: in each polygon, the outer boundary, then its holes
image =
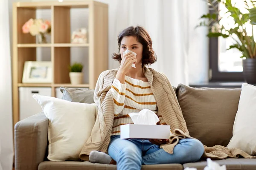
MULTIPOLYGON (((81 14, 82 15, 82 14, 81 14)), ((13 125, 19 119, 19 87, 49 87, 55 97, 55 88, 74 87, 94 89, 99 74, 108 69, 108 5, 93 0, 67 2, 17 2, 13 3, 13 56, 12 56, 12 95, 13 125), (70 9, 87 8, 88 43, 72 44, 70 31, 70 9), (22 33, 23 24, 36 18, 37 9, 51 11, 51 40, 47 44, 37 44, 36 38, 22 33), (22 83, 25 61, 36 60, 36 48, 50 48, 53 82, 48 84, 22 83), (70 48, 88 48, 87 84, 71 85, 69 70, 70 48)))

